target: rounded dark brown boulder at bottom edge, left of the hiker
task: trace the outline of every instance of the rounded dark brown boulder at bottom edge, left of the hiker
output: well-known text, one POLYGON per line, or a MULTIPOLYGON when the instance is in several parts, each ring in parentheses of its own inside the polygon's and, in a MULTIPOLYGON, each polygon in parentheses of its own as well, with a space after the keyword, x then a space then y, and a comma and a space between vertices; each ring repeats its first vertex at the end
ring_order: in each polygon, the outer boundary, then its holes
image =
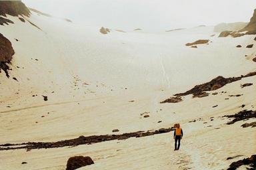
POLYGON ((91 159, 91 157, 83 157, 83 156, 70 157, 69 160, 67 160, 66 170, 74 170, 74 169, 78 169, 79 167, 85 167, 91 164, 94 164, 93 159, 91 159))

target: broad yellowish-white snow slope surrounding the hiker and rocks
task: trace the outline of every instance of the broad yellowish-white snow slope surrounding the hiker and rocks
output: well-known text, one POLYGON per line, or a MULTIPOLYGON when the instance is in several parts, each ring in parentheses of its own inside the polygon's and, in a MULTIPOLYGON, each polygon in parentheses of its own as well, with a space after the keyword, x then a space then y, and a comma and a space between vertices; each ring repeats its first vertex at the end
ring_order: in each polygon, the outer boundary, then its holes
POLYGON ((226 169, 241 158, 227 157, 255 153, 256 129, 241 128, 245 122, 226 125, 227 118, 221 116, 255 108, 256 76, 213 91, 219 92, 216 96, 185 96, 177 104, 159 104, 217 76, 256 71, 255 46, 245 48, 256 45, 255 36, 211 37, 213 27, 169 33, 121 33, 111 28, 103 35, 101 25, 75 25, 36 13, 25 17, 25 23, 7 18, 15 24, 0 28, 13 44, 10 75, 18 81, 0 74, 0 144, 59 141, 109 134, 112 129, 147 131, 176 122, 185 136, 178 152, 173 152, 172 133, 77 147, 1 151, 0 169, 65 169, 73 155, 95 161, 81 169, 226 169), (210 42, 198 48, 185 46, 198 39, 210 42), (240 87, 249 82, 253 85, 240 87), (229 98, 232 94, 243 96, 229 98), (239 108, 242 104, 245 108, 239 108), (143 118, 144 112, 150 117, 143 118), (189 122, 199 118, 202 121, 189 122), (21 165, 22 161, 27 164, 21 165))

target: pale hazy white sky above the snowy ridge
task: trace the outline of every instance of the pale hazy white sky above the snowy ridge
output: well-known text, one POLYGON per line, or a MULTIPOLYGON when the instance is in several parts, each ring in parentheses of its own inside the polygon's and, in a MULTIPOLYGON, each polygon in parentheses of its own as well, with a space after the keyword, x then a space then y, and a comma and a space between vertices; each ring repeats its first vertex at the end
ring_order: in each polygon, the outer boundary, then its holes
POLYGON ((256 0, 23 0, 74 23, 151 31, 248 22, 256 0))

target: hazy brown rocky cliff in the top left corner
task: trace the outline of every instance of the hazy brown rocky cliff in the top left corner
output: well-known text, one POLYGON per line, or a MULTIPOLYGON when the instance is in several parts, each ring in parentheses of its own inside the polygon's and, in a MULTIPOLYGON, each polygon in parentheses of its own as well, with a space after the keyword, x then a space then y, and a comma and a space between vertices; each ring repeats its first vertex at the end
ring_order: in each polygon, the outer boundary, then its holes
POLYGON ((0 15, 5 17, 6 15, 15 17, 25 15, 29 17, 30 11, 21 1, 0 1, 0 15))

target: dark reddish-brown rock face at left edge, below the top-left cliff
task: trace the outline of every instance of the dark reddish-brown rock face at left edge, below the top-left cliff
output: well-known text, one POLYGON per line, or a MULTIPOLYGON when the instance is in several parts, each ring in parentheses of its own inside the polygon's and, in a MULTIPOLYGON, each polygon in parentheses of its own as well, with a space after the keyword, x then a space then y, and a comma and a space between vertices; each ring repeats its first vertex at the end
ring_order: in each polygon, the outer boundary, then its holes
POLYGON ((0 72, 3 70, 7 77, 9 77, 9 66, 7 64, 11 62, 14 53, 11 42, 0 33, 0 72))

